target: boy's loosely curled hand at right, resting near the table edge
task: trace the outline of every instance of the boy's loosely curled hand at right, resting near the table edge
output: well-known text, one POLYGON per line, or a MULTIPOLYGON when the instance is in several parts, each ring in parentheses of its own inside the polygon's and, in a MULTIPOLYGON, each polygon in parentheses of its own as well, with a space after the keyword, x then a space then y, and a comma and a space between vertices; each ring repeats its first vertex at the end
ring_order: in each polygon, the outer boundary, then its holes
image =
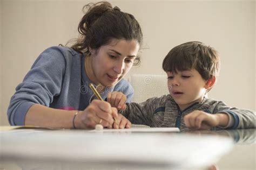
POLYGON ((215 126, 226 126, 228 115, 225 113, 208 114, 207 112, 195 110, 184 117, 187 128, 190 129, 211 129, 215 126))

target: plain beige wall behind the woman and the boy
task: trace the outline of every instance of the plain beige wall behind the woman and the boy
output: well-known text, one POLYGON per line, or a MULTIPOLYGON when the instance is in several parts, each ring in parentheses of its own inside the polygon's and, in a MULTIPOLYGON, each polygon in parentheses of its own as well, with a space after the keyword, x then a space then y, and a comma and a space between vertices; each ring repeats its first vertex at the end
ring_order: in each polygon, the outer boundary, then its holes
MULTIPOLYGON (((82 7, 91 1, 1 1, 1 124, 15 87, 45 48, 77 37, 82 7)), ((161 62, 174 46, 203 41, 221 54, 209 96, 255 110, 255 1, 110 1, 132 13, 144 33, 142 65, 130 74, 165 74, 161 62)))

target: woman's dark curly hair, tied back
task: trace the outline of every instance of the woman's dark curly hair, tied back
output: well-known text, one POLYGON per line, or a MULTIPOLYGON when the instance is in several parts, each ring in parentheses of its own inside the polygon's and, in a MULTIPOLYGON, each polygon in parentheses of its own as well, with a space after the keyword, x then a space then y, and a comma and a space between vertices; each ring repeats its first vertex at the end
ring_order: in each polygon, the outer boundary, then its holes
MULTIPOLYGON (((78 25, 79 38, 71 46, 79 53, 88 53, 89 47, 98 49, 112 39, 137 40, 142 46, 143 34, 138 21, 129 13, 112 8, 109 2, 89 3, 83 7, 85 15, 78 25)), ((140 56, 133 65, 139 65, 140 56)))

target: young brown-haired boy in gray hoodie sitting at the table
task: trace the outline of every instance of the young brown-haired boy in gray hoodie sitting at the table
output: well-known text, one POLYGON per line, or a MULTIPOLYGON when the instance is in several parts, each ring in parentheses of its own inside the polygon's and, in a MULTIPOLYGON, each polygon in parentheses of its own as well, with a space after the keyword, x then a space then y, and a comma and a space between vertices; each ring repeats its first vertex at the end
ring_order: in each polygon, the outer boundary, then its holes
MULTIPOLYGON (((230 108, 207 98, 217 80, 220 60, 217 51, 192 41, 171 49, 163 61, 169 95, 143 103, 126 103, 122 114, 132 124, 150 127, 178 127, 181 130, 255 128, 255 111, 230 108)), ((108 101, 113 97, 108 95, 108 101)))

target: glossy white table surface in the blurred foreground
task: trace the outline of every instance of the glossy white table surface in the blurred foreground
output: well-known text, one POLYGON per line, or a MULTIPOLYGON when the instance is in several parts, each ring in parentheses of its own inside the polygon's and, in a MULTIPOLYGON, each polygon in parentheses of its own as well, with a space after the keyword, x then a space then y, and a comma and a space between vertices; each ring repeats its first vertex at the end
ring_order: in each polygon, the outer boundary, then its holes
POLYGON ((220 169, 255 169, 254 129, 179 133, 19 129, 0 131, 0 139, 0 169, 206 169, 214 163, 220 169))

